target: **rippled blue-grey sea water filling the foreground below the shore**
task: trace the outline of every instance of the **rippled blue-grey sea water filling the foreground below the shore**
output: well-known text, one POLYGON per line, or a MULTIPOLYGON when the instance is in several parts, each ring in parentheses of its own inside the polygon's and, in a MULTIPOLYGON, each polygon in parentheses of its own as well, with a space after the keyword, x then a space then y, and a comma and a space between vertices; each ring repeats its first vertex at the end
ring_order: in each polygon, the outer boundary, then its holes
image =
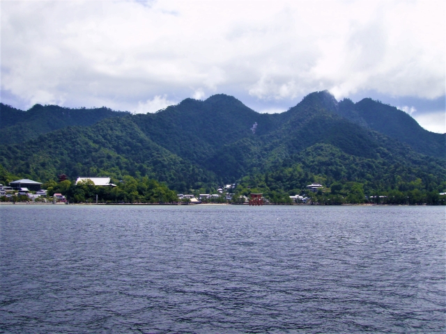
POLYGON ((444 207, 0 205, 0 331, 446 331, 444 207))

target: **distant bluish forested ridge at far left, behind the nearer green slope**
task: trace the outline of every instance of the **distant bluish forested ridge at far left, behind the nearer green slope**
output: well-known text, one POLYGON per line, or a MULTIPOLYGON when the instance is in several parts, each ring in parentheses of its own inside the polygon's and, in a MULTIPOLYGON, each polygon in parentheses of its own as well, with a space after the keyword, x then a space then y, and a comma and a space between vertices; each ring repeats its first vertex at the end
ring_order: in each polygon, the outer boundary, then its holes
POLYGON ((0 131, 3 144, 22 143, 70 125, 89 126, 104 118, 122 117, 128 112, 112 109, 69 109, 35 104, 28 111, 0 103, 0 131))

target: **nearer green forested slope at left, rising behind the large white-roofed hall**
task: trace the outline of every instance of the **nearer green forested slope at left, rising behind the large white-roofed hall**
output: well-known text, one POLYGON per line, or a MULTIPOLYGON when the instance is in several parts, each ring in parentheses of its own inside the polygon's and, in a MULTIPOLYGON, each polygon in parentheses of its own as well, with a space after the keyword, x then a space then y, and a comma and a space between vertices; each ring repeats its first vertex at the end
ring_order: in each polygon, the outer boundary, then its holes
POLYGON ((147 176, 174 189, 210 183, 215 175, 153 143, 131 116, 107 118, 91 127, 66 127, 26 143, 0 147, 1 164, 35 180, 79 175, 147 176))

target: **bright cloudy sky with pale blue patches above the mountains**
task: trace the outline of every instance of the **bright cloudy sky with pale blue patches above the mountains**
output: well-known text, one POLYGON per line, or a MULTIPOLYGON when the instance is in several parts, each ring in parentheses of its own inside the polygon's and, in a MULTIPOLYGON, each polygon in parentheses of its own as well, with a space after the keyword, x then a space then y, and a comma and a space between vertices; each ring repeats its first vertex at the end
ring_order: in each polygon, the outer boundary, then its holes
POLYGON ((0 100, 155 112, 224 93, 264 113, 329 90, 446 132, 446 1, 0 1, 0 100))

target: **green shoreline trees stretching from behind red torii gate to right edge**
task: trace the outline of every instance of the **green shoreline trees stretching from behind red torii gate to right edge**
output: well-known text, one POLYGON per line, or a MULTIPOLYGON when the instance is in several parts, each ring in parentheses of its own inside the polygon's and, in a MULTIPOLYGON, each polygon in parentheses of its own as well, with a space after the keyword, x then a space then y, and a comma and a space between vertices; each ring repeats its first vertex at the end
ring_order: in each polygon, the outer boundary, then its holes
MULTIPOLYGON (((404 176, 404 175, 403 175, 404 176)), ((407 176, 407 175, 406 175, 407 176)), ((398 205, 445 205, 446 196, 440 195, 446 189, 446 182, 432 175, 425 175, 424 180, 394 175, 392 180, 380 182, 364 180, 350 181, 343 178, 334 181, 326 174, 316 175, 304 171, 302 166, 295 165, 279 168, 274 173, 256 173, 243 177, 235 189, 234 200, 249 193, 263 193, 263 196, 274 204, 293 204, 289 196, 305 196, 314 204, 398 204, 398 205), (323 189, 313 193, 306 189, 307 184, 320 183, 323 189)), ((355 178, 357 179, 357 178, 355 178)))

